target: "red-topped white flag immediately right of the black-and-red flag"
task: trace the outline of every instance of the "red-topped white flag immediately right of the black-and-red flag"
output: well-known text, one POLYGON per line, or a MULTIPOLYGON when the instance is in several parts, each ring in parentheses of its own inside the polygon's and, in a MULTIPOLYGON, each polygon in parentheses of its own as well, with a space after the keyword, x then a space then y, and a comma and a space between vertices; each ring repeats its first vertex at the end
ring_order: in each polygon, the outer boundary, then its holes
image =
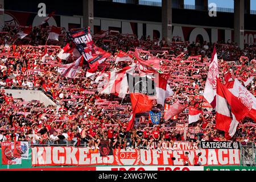
POLYGON ((174 92, 170 88, 170 85, 167 84, 168 74, 157 73, 155 75, 156 83, 156 100, 158 104, 164 106, 164 101, 166 98, 172 96, 174 92))

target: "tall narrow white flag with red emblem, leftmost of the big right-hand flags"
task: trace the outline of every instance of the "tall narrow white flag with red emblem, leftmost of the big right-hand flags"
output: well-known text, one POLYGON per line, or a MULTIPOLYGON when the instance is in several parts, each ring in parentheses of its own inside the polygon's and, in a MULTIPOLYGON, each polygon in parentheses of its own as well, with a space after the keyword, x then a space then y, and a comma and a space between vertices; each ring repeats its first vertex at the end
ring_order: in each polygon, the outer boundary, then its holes
POLYGON ((218 57, 216 48, 214 47, 212 53, 212 60, 209 65, 209 72, 207 81, 205 83, 204 98, 212 105, 213 109, 216 108, 216 89, 217 89, 217 76, 218 76, 218 57))

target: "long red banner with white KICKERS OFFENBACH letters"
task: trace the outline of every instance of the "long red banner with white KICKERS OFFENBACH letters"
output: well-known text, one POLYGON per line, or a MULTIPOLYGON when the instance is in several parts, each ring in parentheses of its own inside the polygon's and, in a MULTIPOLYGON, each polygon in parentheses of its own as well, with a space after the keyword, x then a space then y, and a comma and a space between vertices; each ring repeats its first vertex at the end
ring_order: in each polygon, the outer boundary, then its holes
MULTIPOLYGON (((184 151, 171 150, 113 150, 113 155, 90 154, 87 148, 33 147, 32 166, 183 166, 184 151), (174 162, 172 158, 175 158, 174 162)), ((191 150, 189 160, 193 164, 195 155, 201 152, 202 166, 240 165, 240 150, 202 149, 191 150)))

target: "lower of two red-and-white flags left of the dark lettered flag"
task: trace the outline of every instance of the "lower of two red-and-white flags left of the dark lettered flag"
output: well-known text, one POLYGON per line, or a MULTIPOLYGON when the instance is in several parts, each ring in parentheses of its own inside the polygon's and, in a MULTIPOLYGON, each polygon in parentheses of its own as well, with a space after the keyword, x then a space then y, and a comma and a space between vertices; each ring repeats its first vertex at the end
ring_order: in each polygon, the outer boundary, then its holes
POLYGON ((74 63, 60 66, 58 68, 58 72, 61 73, 61 76, 75 78, 76 74, 82 69, 83 63, 84 57, 80 56, 74 63))

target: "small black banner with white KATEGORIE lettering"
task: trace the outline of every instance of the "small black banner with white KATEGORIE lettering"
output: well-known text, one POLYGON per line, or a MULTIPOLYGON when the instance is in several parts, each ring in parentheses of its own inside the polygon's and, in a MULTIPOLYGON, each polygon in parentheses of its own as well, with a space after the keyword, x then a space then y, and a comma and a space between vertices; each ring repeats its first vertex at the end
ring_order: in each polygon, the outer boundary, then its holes
POLYGON ((201 148, 240 149, 239 142, 201 142, 201 148))

